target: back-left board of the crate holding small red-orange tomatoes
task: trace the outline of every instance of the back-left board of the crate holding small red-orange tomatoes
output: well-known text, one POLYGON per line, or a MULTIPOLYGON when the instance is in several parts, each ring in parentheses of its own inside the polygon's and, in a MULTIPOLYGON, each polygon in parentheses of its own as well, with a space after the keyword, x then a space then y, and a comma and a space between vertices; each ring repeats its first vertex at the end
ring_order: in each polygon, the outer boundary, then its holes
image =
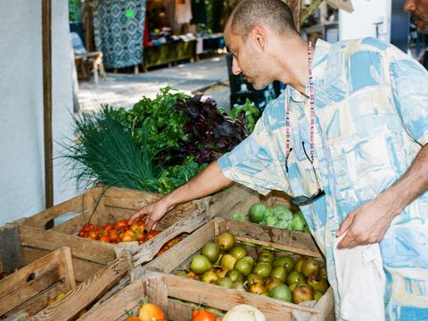
POLYGON ((30 218, 25 218, 21 221, 21 224, 43 228, 45 224, 53 218, 57 218, 71 211, 82 212, 84 210, 82 208, 82 200, 83 196, 78 195, 68 201, 49 208, 48 210, 41 211, 30 218))

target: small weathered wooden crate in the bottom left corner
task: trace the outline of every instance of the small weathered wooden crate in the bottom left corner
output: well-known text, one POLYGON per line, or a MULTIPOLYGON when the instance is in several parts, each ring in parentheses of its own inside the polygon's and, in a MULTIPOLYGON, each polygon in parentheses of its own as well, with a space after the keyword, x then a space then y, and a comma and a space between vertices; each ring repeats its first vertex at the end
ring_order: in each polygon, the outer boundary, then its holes
POLYGON ((8 321, 72 320, 105 292, 118 286, 131 268, 126 256, 76 285, 69 247, 37 259, 0 281, 0 318, 8 321), (46 307, 47 299, 65 293, 62 300, 46 307))

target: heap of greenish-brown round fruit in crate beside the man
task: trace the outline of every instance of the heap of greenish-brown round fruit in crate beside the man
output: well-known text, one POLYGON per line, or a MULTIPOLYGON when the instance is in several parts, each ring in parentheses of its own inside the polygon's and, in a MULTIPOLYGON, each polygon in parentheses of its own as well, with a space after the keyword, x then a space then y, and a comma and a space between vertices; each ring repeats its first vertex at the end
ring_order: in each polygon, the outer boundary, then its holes
POLYGON ((235 235, 223 232, 193 255, 188 269, 175 274, 296 304, 319 300, 328 289, 320 260, 254 246, 236 243, 235 235))

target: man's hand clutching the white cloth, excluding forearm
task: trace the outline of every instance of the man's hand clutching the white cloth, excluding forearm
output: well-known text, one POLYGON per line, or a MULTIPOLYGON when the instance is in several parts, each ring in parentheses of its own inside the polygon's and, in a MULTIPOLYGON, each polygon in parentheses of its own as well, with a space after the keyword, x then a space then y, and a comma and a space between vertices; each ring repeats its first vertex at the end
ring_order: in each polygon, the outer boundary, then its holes
POLYGON ((358 245, 379 243, 398 214, 392 208, 393 202, 383 194, 350 212, 342 222, 336 236, 343 236, 338 249, 353 248, 358 245))

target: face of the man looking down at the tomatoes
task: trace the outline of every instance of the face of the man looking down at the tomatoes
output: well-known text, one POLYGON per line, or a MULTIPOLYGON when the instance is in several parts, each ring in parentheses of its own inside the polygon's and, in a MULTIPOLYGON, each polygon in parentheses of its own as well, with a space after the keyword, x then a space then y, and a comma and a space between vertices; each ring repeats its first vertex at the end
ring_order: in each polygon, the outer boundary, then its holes
POLYGON ((234 75, 243 74, 243 79, 250 82, 255 89, 263 89, 271 82, 268 70, 264 68, 263 56, 257 50, 251 37, 242 36, 225 30, 226 48, 232 54, 232 72, 234 75))

